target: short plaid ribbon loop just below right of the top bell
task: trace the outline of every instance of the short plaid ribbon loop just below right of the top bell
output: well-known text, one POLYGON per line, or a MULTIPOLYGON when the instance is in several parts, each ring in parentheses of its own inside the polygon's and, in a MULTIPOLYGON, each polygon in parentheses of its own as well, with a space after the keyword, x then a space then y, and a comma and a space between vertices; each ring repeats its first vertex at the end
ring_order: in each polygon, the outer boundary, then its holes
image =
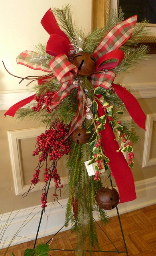
POLYGON ((98 73, 98 74, 93 74, 89 76, 89 80, 93 84, 93 86, 102 86, 105 89, 109 89, 113 81, 116 77, 116 74, 112 71, 107 71, 105 73, 98 73))

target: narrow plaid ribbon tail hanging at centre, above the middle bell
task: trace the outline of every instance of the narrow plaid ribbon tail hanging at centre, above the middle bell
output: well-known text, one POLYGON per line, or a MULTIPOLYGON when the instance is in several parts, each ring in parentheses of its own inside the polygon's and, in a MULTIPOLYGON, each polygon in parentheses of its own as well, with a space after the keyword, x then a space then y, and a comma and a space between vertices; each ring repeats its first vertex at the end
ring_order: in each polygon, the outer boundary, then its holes
POLYGON ((79 127, 82 122, 85 120, 85 111, 83 112, 83 92, 80 90, 80 88, 78 88, 78 92, 77 92, 77 99, 79 100, 79 106, 78 106, 78 110, 77 110, 77 114, 74 118, 74 120, 71 122, 71 127, 69 130, 69 133, 67 134, 67 136, 65 137, 68 138, 69 135, 71 135, 71 133, 77 128, 79 127))

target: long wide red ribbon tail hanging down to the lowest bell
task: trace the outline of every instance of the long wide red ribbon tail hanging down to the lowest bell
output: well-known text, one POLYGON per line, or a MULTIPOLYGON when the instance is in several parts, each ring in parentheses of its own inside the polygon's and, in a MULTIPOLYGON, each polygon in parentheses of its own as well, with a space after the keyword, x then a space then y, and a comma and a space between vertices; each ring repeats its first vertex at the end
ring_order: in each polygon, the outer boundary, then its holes
MULTIPOLYGON (((104 114, 101 104, 98 102, 99 116, 104 114)), ((119 149, 118 142, 115 140, 115 134, 107 121, 105 130, 101 131, 101 138, 105 155, 109 158, 109 166, 111 168, 113 177, 117 184, 120 203, 129 202, 136 199, 134 178, 128 166, 126 159, 119 149)))

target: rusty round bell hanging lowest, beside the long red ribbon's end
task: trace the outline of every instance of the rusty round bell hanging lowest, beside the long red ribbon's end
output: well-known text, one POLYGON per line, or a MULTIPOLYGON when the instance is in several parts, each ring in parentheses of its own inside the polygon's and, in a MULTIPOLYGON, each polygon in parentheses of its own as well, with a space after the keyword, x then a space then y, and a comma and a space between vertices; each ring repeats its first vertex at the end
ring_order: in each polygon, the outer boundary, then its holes
POLYGON ((119 194, 115 188, 106 186, 98 190, 95 200, 101 209, 112 210, 117 207, 119 194))

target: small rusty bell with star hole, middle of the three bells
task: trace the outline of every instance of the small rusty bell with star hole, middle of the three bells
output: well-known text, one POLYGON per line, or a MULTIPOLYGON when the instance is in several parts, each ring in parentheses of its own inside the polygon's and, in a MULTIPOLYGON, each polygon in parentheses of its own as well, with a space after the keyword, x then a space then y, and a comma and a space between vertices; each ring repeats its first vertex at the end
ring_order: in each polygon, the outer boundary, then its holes
POLYGON ((83 145, 89 140, 90 135, 86 133, 85 128, 76 128, 71 137, 76 144, 83 145))

